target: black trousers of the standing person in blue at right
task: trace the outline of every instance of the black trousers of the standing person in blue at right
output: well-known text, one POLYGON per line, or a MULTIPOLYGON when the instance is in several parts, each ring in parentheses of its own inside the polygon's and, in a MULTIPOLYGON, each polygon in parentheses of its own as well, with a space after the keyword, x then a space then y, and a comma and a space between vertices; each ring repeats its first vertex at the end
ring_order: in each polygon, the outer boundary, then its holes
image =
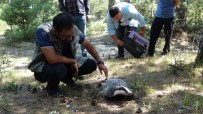
POLYGON ((161 29, 164 27, 165 34, 165 45, 163 48, 164 53, 170 52, 170 42, 172 37, 172 28, 173 28, 173 17, 172 18, 159 18, 155 17, 152 22, 151 32, 150 32, 150 42, 149 42, 149 55, 155 53, 155 45, 160 35, 161 29))

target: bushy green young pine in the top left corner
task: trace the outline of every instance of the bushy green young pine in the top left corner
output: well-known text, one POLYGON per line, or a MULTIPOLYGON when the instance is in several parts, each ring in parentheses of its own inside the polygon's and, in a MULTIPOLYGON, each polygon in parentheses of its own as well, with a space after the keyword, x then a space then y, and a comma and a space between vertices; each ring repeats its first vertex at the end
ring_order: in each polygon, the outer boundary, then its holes
POLYGON ((37 9, 32 7, 31 0, 13 0, 3 8, 1 18, 8 25, 16 25, 18 28, 26 30, 34 22, 37 13, 37 9))

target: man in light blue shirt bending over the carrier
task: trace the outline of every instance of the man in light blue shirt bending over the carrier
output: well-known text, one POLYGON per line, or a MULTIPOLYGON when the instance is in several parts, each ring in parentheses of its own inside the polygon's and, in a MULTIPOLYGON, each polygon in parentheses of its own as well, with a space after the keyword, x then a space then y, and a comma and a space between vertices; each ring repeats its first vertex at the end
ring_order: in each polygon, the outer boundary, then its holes
POLYGON ((135 7, 127 2, 119 2, 112 6, 107 13, 107 31, 118 45, 118 56, 116 59, 124 58, 123 38, 125 30, 135 31, 137 21, 139 22, 140 35, 145 34, 145 20, 135 7), (137 20, 137 21, 136 21, 137 20))

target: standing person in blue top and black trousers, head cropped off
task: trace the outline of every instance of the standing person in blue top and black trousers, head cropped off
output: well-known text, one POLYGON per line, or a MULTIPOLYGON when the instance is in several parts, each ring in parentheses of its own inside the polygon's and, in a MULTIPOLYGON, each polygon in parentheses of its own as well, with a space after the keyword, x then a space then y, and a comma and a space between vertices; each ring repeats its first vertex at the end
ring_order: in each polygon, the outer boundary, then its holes
POLYGON ((174 12, 175 7, 179 4, 179 0, 158 0, 157 2, 158 6, 151 26, 150 43, 148 49, 148 56, 151 57, 154 56, 155 45, 163 27, 165 33, 165 45, 161 55, 166 55, 170 52, 174 12))

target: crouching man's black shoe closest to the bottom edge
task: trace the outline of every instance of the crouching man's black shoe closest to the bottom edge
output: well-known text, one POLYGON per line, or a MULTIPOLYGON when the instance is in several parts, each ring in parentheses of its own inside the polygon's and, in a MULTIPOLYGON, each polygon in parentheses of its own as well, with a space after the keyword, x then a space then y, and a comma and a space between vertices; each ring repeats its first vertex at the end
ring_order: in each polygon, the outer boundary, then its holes
POLYGON ((50 96, 52 96, 54 98, 62 98, 62 97, 64 97, 64 94, 60 91, 60 89, 58 87, 56 87, 56 88, 48 88, 48 87, 46 87, 45 90, 50 96))

